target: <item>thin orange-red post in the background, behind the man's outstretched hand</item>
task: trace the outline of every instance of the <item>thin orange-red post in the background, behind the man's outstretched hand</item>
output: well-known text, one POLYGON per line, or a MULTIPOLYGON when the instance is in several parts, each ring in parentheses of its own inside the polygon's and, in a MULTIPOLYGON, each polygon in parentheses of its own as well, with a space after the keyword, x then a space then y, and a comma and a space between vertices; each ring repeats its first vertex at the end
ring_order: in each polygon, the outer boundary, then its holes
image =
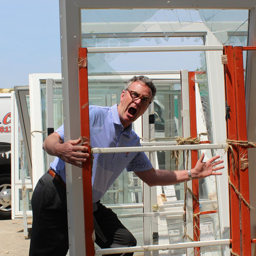
MULTIPOLYGON (((189 113, 190 113, 190 136, 191 138, 197 137, 197 112, 196 112, 196 85, 195 85, 195 72, 188 72, 189 84, 189 113)), ((191 151, 191 165, 194 167, 198 160, 197 150, 191 151)), ((192 181, 193 197, 193 225, 194 225, 194 241, 200 241, 200 209, 199 209, 199 182, 198 180, 192 181)), ((194 250, 195 255, 200 255, 200 247, 194 250)))

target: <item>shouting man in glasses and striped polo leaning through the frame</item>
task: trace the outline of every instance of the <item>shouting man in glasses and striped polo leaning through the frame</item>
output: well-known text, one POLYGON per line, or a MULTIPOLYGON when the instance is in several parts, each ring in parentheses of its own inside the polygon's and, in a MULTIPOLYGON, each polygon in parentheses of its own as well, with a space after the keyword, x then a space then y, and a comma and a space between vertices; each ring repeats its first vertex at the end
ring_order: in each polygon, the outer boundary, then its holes
MULTIPOLYGON (((119 105, 112 107, 90 106, 90 140, 92 147, 140 146, 138 135, 132 130, 132 122, 140 117, 153 101, 156 88, 145 76, 133 77, 125 86, 119 105)), ((33 227, 30 256, 66 255, 68 244, 68 221, 66 199, 65 162, 81 167, 89 157, 87 147, 80 146, 80 139, 64 142, 63 125, 44 141, 43 148, 57 156, 48 173, 38 181, 33 197, 33 227)), ((223 160, 220 156, 203 162, 204 154, 191 170, 155 169, 144 152, 118 154, 94 154, 92 170, 93 203, 96 243, 101 248, 135 246, 136 239, 127 230, 111 209, 99 200, 121 174, 124 168, 133 171, 150 186, 171 185, 190 179, 202 179, 209 175, 221 175, 214 171, 223 160), (102 233, 101 233, 102 232, 102 233)), ((133 253, 115 254, 133 255, 133 253)))

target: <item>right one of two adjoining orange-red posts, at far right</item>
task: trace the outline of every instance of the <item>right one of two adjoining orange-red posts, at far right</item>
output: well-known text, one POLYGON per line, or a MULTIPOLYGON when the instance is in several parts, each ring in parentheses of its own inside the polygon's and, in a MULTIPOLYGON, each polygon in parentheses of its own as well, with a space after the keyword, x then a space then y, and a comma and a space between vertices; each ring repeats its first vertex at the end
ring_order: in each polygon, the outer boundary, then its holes
MULTIPOLYGON (((256 49, 256 48, 255 48, 256 49)), ((244 66, 243 66, 243 48, 234 47, 234 77, 236 87, 236 104, 237 104, 237 132, 239 141, 247 141, 246 129, 246 106, 245 106, 245 86, 244 86, 244 66)), ((239 158, 239 182, 240 193, 244 200, 249 203, 249 173, 248 166, 241 168, 241 161, 247 159, 247 148, 238 146, 239 158)), ((251 255, 251 230, 250 230, 250 210, 248 205, 240 199, 240 216, 241 216, 241 242, 242 253, 241 255, 251 255)))

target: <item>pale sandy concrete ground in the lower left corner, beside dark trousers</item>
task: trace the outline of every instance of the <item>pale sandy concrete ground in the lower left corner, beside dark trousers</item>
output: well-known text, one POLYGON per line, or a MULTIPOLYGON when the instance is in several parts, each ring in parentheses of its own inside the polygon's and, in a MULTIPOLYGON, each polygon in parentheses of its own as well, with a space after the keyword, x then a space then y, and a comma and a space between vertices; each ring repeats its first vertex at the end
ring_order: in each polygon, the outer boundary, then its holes
POLYGON ((30 239, 24 237, 23 220, 0 220, 0 256, 28 256, 29 244, 30 239))

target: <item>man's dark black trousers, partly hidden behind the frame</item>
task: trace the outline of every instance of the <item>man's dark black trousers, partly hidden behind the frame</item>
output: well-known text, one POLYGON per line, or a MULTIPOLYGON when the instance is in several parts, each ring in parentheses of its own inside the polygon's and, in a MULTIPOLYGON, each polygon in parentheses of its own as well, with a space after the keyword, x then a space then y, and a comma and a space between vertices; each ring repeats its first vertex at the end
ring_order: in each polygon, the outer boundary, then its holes
MULTIPOLYGON (((95 242, 101 248, 136 246, 136 239, 116 214, 101 203, 97 205, 94 217, 107 241, 103 243, 96 233, 95 242)), ((32 210, 29 256, 66 256, 69 249, 66 188, 45 174, 34 189, 32 210)), ((111 255, 132 256, 133 253, 111 255)))

